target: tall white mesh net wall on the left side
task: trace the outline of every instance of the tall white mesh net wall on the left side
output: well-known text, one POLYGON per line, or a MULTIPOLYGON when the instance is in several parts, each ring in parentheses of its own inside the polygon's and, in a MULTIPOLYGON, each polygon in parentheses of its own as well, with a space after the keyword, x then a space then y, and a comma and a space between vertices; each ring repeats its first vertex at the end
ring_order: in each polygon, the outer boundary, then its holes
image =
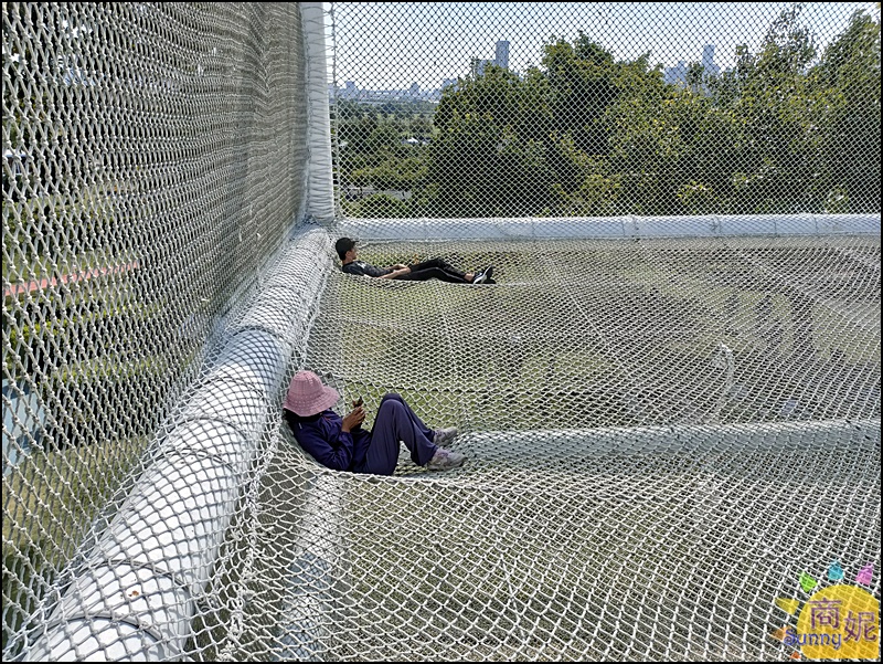
POLYGON ((298 213, 299 21, 3 4, 4 658, 298 213))

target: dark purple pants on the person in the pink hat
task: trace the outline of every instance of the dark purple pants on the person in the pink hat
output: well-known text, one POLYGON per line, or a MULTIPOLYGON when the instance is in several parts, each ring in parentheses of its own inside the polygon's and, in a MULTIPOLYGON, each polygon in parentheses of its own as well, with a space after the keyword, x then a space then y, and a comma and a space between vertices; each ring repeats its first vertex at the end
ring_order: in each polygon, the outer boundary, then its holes
POLYGON ((398 463, 398 441, 411 451, 414 463, 426 465, 437 450, 434 435, 435 432, 421 421, 402 397, 386 394, 374 418, 365 460, 354 470, 357 473, 392 475, 398 463))

